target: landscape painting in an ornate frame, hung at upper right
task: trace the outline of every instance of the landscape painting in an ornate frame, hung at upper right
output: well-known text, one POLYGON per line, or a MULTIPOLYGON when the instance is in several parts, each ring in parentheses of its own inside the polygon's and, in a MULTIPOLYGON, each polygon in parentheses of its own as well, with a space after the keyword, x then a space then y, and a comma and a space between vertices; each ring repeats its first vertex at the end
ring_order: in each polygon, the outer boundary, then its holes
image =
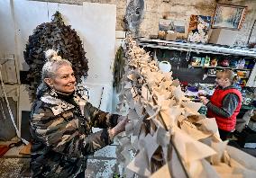
POLYGON ((212 28, 241 29, 245 10, 246 6, 217 4, 212 28))

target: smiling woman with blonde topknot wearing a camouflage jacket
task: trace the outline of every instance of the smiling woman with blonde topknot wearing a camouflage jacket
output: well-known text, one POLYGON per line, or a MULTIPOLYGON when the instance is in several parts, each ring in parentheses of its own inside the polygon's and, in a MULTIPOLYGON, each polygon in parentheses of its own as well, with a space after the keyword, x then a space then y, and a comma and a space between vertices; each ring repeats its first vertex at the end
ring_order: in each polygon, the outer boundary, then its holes
POLYGON ((32 105, 32 177, 85 177, 87 156, 113 142, 126 117, 100 111, 76 91, 71 63, 46 52, 32 105), (92 127, 102 130, 92 133, 92 127))

